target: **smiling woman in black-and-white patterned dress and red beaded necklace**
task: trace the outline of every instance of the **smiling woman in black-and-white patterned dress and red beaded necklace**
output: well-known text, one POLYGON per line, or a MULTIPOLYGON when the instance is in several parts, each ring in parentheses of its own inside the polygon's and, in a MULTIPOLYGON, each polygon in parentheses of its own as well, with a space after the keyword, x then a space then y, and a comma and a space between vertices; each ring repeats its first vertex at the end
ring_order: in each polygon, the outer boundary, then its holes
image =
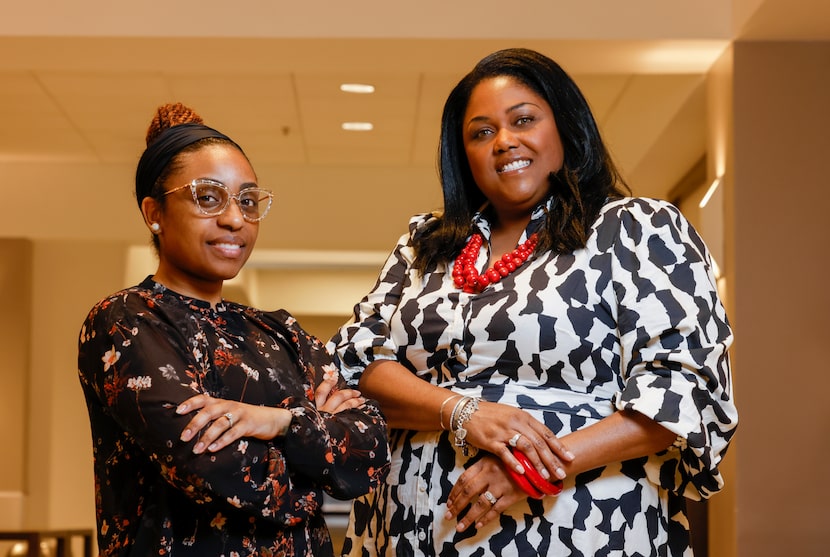
POLYGON ((415 216, 329 347, 392 468, 348 555, 689 555, 686 497, 735 431, 707 249, 628 197, 572 79, 496 52, 444 107, 444 208, 415 216))

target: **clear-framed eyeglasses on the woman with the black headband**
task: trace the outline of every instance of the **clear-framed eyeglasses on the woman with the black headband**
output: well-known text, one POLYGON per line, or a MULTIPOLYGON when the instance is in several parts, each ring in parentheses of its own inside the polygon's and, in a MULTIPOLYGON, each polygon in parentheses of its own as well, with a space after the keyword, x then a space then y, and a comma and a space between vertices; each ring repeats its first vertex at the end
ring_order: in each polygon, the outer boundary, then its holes
POLYGON ((259 222, 265 218, 271 209, 271 202, 274 194, 260 188, 245 188, 239 193, 233 194, 228 186, 222 182, 208 179, 197 179, 178 188, 164 192, 163 195, 176 193, 184 188, 190 188, 193 194, 193 202, 199 208, 199 212, 209 217, 215 217, 224 213, 231 204, 231 199, 239 205, 242 218, 248 222, 259 222))

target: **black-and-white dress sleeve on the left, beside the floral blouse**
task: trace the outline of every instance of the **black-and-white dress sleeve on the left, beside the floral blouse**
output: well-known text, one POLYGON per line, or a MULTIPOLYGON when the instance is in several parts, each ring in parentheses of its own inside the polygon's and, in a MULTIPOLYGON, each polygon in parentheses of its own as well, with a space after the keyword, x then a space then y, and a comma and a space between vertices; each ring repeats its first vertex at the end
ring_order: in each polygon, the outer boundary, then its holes
POLYGON ((398 240, 381 269, 374 288, 354 307, 352 320, 328 343, 335 362, 349 385, 356 386, 363 370, 375 360, 394 360, 398 346, 392 339, 389 321, 409 282, 414 260, 412 235, 431 215, 416 215, 409 222, 409 233, 398 240))

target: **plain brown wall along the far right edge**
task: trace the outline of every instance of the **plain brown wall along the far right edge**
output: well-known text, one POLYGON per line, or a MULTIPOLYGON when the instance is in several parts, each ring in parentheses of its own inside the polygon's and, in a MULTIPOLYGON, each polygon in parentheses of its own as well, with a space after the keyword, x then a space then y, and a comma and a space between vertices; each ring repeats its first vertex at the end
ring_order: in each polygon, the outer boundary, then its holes
POLYGON ((738 555, 827 553, 830 44, 734 48, 738 555))

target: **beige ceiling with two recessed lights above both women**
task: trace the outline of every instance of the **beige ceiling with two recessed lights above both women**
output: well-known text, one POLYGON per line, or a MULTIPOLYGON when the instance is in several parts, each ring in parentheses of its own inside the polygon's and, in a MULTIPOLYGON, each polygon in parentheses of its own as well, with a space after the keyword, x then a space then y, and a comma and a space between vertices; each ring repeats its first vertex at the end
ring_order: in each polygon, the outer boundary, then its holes
POLYGON ((635 193, 660 197, 705 155, 703 76, 731 41, 830 38, 826 0, 0 1, 0 237, 131 244, 147 238, 135 163, 168 101, 276 192, 260 248, 385 251, 440 205, 443 100, 497 48, 559 61, 635 193))

